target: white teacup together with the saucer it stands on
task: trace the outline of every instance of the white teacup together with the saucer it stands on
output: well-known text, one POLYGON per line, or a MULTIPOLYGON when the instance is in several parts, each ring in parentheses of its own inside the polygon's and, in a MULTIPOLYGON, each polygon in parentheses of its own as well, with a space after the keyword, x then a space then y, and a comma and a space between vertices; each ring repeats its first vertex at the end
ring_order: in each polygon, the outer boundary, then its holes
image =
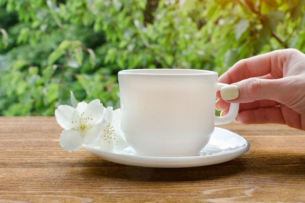
POLYGON ((215 125, 235 119, 238 103, 215 116, 216 92, 228 84, 194 69, 131 69, 118 73, 124 143, 112 151, 86 150, 102 159, 144 167, 195 167, 235 159, 250 148, 240 135, 215 125))

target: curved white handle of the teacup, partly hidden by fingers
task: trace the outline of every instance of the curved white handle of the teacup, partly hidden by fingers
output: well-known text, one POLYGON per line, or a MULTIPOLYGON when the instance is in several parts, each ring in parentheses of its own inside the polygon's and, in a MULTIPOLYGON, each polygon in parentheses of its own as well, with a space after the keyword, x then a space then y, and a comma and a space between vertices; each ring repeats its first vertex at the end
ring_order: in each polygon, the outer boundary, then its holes
MULTIPOLYGON (((217 83, 217 91, 220 91, 222 87, 227 86, 225 83, 217 83)), ((229 112, 225 116, 216 116, 215 115, 215 125, 227 124, 232 122, 239 111, 239 103, 230 103, 229 112)))

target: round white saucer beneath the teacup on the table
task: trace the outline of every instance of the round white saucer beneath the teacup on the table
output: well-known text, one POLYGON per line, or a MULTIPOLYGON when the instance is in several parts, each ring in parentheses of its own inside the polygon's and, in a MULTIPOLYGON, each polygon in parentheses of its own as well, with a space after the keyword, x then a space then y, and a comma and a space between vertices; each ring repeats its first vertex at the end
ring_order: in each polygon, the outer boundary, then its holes
POLYGON ((100 148, 86 147, 86 150, 97 157, 118 164, 144 167, 179 168, 220 164, 235 159, 246 153, 249 142, 227 129, 215 128, 209 144, 200 155, 191 157, 152 157, 134 155, 132 148, 105 151, 100 148))

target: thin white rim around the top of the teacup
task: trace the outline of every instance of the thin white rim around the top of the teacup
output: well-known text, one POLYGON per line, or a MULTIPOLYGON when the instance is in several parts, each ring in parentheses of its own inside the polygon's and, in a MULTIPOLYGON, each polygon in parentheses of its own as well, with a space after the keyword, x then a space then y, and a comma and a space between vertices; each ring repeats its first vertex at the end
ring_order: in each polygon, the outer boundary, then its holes
POLYGON ((118 74, 132 75, 166 75, 166 76, 187 76, 187 75, 217 75, 217 72, 201 69, 126 69, 121 70, 118 74))

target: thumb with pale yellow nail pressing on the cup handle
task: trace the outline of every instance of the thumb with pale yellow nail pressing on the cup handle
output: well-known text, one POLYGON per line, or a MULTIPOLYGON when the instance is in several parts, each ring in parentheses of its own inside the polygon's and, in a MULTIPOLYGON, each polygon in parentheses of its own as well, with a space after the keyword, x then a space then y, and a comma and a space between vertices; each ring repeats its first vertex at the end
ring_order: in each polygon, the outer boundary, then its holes
MULTIPOLYGON (((268 99, 289 107, 295 105, 300 100, 305 100, 304 90, 304 76, 290 76, 280 79, 260 79, 253 77, 223 87, 220 90, 220 94, 223 100, 230 103, 250 103, 268 99), (230 96, 232 95, 230 91, 234 89, 232 86, 237 87, 235 88, 236 96, 233 97, 230 96)), ((304 106, 304 103, 302 106, 304 106)))

